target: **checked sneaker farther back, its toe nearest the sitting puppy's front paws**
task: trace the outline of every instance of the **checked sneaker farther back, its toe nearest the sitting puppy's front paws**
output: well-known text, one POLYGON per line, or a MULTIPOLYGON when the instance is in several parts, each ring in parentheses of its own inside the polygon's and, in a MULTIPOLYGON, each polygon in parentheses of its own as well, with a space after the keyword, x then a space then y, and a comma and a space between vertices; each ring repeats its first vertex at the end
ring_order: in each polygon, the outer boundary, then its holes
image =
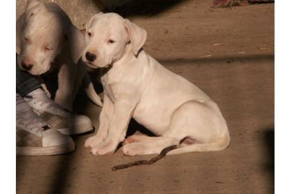
POLYGON ((58 129, 63 134, 82 134, 94 128, 88 116, 76 115, 62 108, 51 98, 48 98, 42 89, 31 91, 24 96, 24 100, 48 125, 58 129))

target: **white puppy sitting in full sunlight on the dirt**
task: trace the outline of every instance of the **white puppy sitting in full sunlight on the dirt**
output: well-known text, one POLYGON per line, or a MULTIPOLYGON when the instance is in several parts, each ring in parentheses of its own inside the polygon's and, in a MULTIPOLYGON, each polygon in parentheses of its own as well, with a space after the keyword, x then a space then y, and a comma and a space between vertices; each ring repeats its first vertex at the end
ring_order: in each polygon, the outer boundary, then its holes
POLYGON ((102 68, 105 90, 100 127, 85 142, 94 155, 114 152, 132 117, 157 136, 130 136, 124 155, 157 154, 169 145, 179 145, 169 154, 227 148, 229 130, 218 105, 143 51, 143 28, 107 13, 92 17, 86 30, 82 60, 102 68))

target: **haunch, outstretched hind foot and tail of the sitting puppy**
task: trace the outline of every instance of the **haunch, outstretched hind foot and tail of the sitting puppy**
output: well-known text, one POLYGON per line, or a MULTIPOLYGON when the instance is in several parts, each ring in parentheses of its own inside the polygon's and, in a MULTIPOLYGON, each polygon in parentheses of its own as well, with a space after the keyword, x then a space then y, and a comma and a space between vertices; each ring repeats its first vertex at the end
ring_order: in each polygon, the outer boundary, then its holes
POLYGON ((218 110, 214 103, 188 101, 173 112, 163 136, 143 137, 144 141, 129 143, 123 147, 123 154, 159 154, 164 148, 179 145, 184 139, 191 139, 190 143, 194 144, 182 145, 168 154, 223 150, 229 145, 230 138, 227 124, 218 110))

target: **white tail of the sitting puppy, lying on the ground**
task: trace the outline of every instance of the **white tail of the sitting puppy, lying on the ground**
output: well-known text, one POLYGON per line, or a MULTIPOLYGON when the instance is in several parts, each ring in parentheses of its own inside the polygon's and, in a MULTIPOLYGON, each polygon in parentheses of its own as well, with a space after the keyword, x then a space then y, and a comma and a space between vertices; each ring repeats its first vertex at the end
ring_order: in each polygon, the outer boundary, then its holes
POLYGON ((178 155, 186 152, 210 152, 210 151, 218 151, 218 150, 224 150, 229 146, 230 143, 230 137, 227 133, 224 137, 221 139, 218 139, 218 141, 215 141, 213 143, 201 143, 201 144, 191 144, 186 145, 181 148, 177 148, 175 150, 171 150, 167 153, 167 155, 178 155))

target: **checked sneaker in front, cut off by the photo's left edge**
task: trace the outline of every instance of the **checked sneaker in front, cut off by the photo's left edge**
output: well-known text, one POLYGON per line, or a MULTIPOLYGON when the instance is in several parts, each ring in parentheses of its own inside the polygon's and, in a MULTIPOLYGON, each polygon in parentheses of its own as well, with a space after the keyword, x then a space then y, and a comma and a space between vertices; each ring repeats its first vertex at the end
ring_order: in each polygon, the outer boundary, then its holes
POLYGON ((16 154, 60 155, 75 150, 70 136, 48 127, 19 94, 16 96, 16 154))

